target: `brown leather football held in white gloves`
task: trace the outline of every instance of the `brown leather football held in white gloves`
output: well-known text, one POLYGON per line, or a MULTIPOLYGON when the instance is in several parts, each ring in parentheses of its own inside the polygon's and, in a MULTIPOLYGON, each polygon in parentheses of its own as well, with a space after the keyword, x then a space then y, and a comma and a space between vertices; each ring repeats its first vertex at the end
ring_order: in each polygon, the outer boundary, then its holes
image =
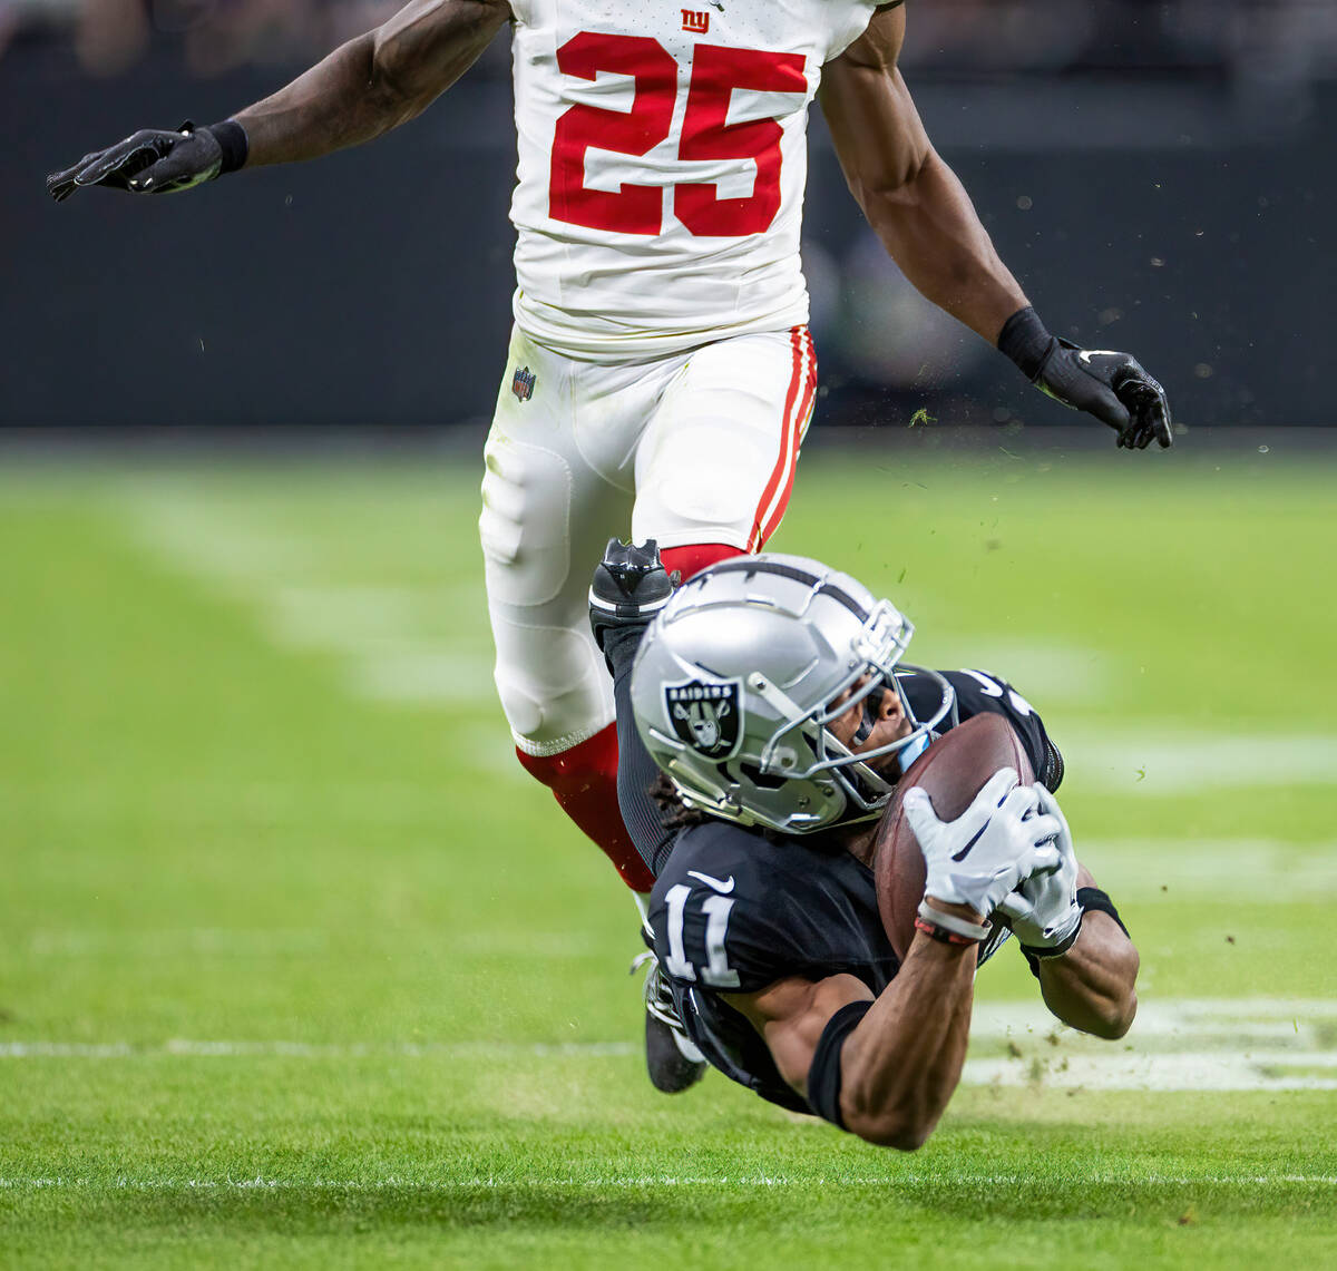
POLYGON ((924 854, 901 810, 905 791, 923 786, 940 821, 955 821, 999 770, 1016 768, 1035 781, 1016 731, 1001 715, 975 715, 940 736, 901 778, 882 814, 873 847, 877 907, 898 958, 915 938, 915 915, 924 898, 924 854))

